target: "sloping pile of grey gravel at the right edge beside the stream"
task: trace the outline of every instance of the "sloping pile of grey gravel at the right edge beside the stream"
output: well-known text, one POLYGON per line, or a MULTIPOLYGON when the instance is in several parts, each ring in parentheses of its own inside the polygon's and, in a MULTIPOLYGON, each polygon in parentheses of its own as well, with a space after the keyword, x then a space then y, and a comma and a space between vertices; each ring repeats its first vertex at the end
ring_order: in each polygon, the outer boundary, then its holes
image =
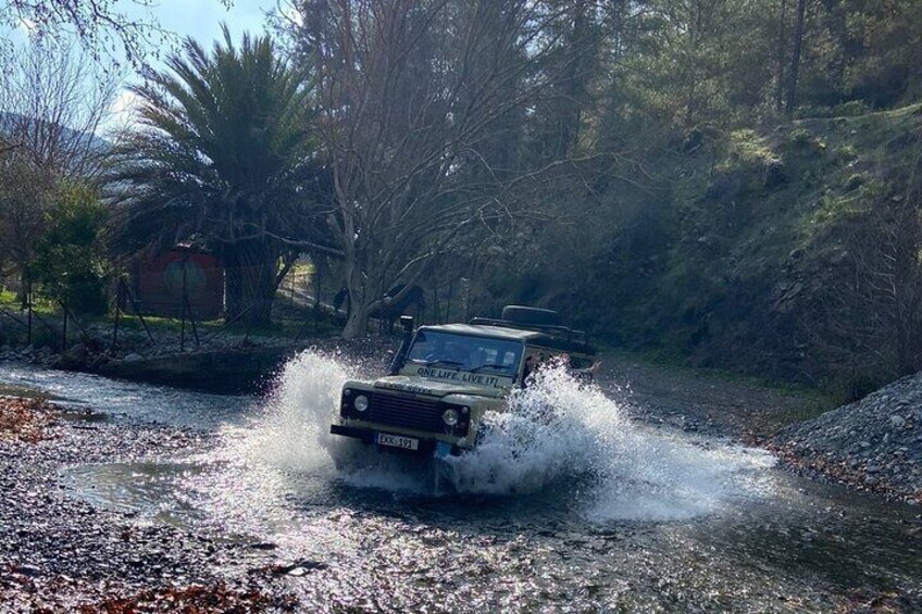
POLYGON ((784 428, 770 448, 807 475, 922 504, 922 373, 784 428))

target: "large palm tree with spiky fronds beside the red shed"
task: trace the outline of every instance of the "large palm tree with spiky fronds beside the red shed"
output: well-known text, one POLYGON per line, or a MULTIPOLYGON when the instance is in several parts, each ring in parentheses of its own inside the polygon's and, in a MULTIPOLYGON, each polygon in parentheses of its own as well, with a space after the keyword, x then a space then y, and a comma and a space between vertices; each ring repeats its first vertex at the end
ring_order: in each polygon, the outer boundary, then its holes
POLYGON ((109 174, 115 245, 122 254, 208 246, 225 265, 226 317, 264 323, 292 250, 322 225, 324 173, 306 75, 269 36, 244 35, 237 48, 222 29, 210 53, 188 38, 169 70, 133 88, 138 127, 120 139, 109 174))

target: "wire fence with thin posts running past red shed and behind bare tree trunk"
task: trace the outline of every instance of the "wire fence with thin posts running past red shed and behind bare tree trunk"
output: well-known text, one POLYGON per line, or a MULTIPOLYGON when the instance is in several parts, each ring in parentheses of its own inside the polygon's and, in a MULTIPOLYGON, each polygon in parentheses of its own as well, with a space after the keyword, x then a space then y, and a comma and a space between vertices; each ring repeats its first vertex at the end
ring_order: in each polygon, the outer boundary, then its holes
MULTIPOLYGON (((254 336, 299 341, 335 334, 346 324, 348 298, 331 270, 296 263, 284 278, 272 279, 264 298, 253 290, 260 278, 259 271, 228 270, 208 254, 176 251, 138 261, 114 279, 11 284, 0 295, 0 346, 61 352, 77 342, 97 351, 146 343, 186 351, 254 336), (130 343, 123 343, 126 339, 130 343)), ((466 278, 414 286, 404 299, 373 314, 370 329, 391 333, 402 314, 414 315, 418 324, 489 315, 493 310, 472 296, 471 286, 466 278)))

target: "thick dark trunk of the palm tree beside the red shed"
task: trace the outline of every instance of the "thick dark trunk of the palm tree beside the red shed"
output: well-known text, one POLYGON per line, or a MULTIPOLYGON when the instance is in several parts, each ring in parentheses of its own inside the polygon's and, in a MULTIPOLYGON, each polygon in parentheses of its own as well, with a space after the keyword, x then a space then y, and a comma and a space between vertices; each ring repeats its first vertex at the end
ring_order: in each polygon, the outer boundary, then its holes
POLYGON ((272 301, 277 288, 278 254, 266 241, 248 240, 225 246, 225 319, 247 326, 272 322, 272 301))

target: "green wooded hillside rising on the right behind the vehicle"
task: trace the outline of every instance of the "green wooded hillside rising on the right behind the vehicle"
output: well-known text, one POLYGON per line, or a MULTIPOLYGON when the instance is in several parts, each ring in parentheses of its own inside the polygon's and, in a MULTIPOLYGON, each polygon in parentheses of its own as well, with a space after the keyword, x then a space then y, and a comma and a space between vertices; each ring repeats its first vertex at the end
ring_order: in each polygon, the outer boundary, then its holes
POLYGON ((922 5, 572 10, 581 53, 522 155, 577 171, 506 237, 488 293, 845 394, 919 369, 922 5))

